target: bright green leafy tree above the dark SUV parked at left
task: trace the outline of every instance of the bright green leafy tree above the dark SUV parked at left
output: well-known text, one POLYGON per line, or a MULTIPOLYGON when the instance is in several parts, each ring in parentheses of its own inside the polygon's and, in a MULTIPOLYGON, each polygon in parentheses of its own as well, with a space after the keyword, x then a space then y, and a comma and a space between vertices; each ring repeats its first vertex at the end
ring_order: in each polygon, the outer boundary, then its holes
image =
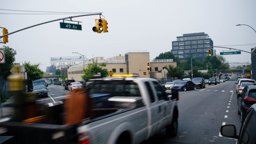
POLYGON ((26 69, 27 72, 27 86, 28 90, 32 88, 32 81, 39 80, 44 78, 44 72, 39 69, 38 64, 31 64, 30 61, 22 63, 22 66, 26 69))

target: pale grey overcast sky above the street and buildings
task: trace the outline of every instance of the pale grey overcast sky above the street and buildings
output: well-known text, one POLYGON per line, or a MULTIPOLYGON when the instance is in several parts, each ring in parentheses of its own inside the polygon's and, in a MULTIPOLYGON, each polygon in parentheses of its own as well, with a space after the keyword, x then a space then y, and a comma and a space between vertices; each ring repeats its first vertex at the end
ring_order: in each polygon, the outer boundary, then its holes
MULTIPOLYGON (((205 32, 215 46, 255 44, 255 0, 8 0, 0 9, 49 12, 102 12, 108 21, 108 33, 92 31, 99 15, 73 18, 82 21, 82 31, 60 29, 60 22, 51 22, 9 35, 7 44, 17 51, 16 62, 41 63, 46 71, 50 57, 76 56, 78 52, 92 58, 110 58, 128 50, 147 50, 150 59, 162 52, 171 51, 172 41, 188 33, 205 32), (246 24, 235 26, 237 24, 246 24)), ((0 10, 0 13, 25 13, 0 10)), ((32 12, 27 12, 32 13, 32 12)), ((0 27, 8 32, 80 14, 0 14, 0 27)), ((104 17, 103 17, 104 18, 104 17)), ((69 22, 67 23, 76 23, 69 22)), ((1 30, 2 32, 2 30, 1 30)), ((255 45, 227 46, 251 51, 255 45)), ((216 53, 229 50, 214 48, 216 53)), ((229 62, 251 63, 251 54, 241 52, 224 56, 229 62)))

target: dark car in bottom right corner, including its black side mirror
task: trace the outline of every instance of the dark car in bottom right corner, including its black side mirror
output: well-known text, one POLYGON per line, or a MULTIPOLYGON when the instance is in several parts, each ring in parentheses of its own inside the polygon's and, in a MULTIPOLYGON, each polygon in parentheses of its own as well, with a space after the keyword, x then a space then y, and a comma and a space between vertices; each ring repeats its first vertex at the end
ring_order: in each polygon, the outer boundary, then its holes
POLYGON ((222 125, 220 128, 220 134, 222 136, 237 139, 236 144, 250 144, 255 143, 256 136, 256 104, 249 108, 245 120, 241 125, 240 132, 237 135, 235 125, 222 125))

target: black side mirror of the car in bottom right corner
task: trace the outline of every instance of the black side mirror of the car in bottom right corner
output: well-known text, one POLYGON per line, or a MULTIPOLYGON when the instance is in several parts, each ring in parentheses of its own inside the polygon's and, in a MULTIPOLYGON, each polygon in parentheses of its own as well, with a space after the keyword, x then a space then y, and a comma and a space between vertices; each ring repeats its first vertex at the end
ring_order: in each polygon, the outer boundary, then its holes
POLYGON ((222 125, 220 128, 220 134, 222 136, 238 139, 235 125, 222 125))

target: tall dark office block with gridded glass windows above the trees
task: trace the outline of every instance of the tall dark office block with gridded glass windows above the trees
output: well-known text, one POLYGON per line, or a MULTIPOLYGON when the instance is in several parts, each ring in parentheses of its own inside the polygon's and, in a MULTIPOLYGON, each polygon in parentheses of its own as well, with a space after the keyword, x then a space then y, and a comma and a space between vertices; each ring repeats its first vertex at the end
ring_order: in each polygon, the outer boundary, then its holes
MULTIPOLYGON (((176 38, 177 41, 172 42, 171 52, 175 57, 182 58, 183 60, 198 56, 196 58, 203 61, 205 56, 209 55, 209 46, 213 46, 213 41, 204 32, 183 34, 183 36, 177 36, 176 38)), ((213 52, 213 48, 211 49, 213 52)))

